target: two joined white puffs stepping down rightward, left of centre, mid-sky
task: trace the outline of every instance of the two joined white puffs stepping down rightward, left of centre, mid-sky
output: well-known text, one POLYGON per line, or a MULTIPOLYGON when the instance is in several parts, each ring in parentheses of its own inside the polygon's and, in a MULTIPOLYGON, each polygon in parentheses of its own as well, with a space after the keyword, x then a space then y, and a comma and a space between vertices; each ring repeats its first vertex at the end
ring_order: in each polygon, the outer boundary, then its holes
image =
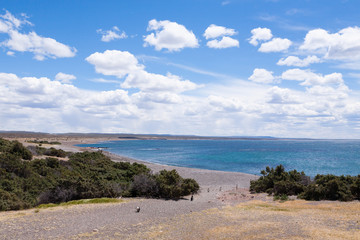
POLYGON ((86 61, 95 66, 98 73, 124 78, 123 88, 139 88, 142 91, 184 92, 199 87, 189 80, 182 80, 172 74, 161 75, 145 71, 145 66, 138 63, 129 52, 107 50, 93 53, 86 61))

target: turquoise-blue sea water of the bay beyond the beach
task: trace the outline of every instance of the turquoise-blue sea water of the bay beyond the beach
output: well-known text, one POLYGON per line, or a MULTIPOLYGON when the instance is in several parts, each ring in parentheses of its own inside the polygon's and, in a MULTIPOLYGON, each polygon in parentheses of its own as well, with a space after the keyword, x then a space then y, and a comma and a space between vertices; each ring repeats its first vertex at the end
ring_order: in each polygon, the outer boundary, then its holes
POLYGON ((152 163, 257 175, 279 164, 309 176, 360 174, 360 140, 126 140, 79 146, 152 163))

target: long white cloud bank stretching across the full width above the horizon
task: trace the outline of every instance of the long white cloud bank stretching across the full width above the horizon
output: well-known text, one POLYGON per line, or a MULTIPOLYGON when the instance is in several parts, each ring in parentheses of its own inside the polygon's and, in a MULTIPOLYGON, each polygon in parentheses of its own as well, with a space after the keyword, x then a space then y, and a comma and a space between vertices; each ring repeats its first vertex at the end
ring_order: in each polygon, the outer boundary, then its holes
POLYGON ((86 91, 48 78, 0 73, 0 119, 4 129, 48 132, 359 134, 348 125, 359 117, 358 94, 348 96, 351 92, 342 84, 295 91, 238 80, 204 88, 208 94, 200 96, 153 91, 129 95, 122 89, 86 91))

